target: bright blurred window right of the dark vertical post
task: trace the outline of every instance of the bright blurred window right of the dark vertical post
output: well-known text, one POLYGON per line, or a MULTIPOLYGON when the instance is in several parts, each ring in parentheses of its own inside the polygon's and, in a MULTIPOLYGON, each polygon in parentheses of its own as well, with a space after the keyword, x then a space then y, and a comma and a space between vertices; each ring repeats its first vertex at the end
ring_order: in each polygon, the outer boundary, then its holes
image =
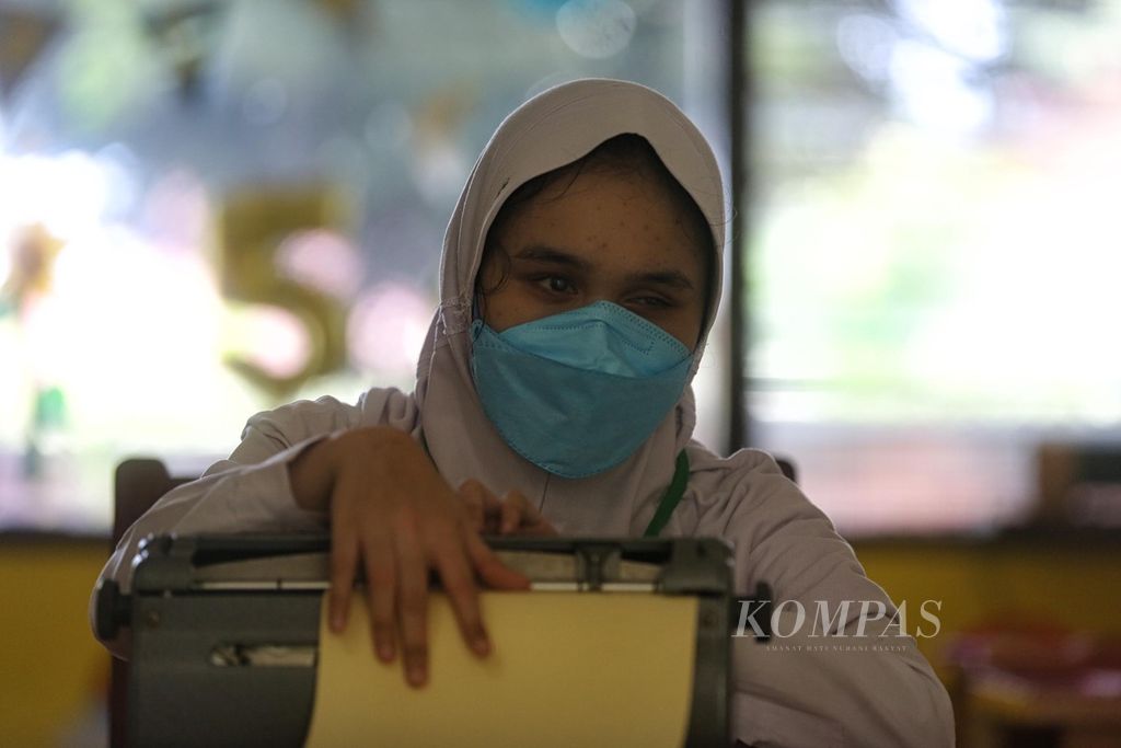
POLYGON ((752 441, 849 533, 1025 519, 1121 435, 1121 2, 751 8, 752 441))

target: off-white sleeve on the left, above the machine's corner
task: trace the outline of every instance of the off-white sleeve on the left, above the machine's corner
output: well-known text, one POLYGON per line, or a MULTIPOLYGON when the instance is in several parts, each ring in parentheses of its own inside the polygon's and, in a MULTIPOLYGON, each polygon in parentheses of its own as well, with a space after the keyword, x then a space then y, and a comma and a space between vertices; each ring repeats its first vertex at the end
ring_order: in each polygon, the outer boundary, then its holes
MULTIPOLYGON (((288 464, 317 441, 353 428, 360 417, 360 406, 323 397, 250 418, 241 443, 228 459, 215 462, 198 480, 168 492, 126 530, 91 595, 91 626, 96 589, 105 580, 114 580, 122 592, 131 589, 132 558, 149 535, 322 530, 326 516, 296 505, 288 464)), ((123 639, 103 644, 118 656, 127 649, 123 639)))

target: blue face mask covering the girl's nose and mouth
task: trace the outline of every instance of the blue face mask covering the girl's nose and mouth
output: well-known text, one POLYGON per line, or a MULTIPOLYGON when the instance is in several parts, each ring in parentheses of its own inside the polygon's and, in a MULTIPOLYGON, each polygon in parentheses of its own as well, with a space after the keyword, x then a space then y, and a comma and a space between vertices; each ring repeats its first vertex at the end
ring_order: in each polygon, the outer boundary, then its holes
POLYGON ((495 332, 472 325, 483 410, 515 452, 563 478, 612 468, 680 398, 693 354, 611 302, 495 332))

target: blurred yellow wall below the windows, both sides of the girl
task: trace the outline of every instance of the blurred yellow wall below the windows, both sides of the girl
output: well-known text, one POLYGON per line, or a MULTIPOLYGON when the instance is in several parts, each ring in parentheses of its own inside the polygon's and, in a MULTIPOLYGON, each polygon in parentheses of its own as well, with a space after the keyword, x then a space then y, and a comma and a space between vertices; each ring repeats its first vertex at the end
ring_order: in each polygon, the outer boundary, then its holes
MULTIPOLYGON (((0 541, 0 745, 55 745, 101 698, 108 655, 90 634, 86 603, 106 545, 0 541)), ((920 641, 934 662, 954 629, 1012 611, 1121 634, 1110 602, 1121 589, 1121 553, 1101 542, 867 542, 856 552, 896 602, 943 601, 942 634, 920 641)))

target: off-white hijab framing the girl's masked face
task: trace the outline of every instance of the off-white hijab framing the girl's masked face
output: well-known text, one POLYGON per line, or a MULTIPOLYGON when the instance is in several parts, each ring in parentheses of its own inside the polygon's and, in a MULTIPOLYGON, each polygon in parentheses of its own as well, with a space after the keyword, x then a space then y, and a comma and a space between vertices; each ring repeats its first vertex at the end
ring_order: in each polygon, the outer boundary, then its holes
POLYGON ((673 478, 677 453, 692 437, 693 391, 686 387, 654 434, 620 465, 582 479, 552 475, 510 450, 479 404, 471 376, 472 296, 487 232, 507 197, 529 179, 622 133, 637 133, 650 142, 712 227, 716 277, 691 377, 696 372, 720 302, 724 246, 720 170, 704 137, 668 99, 636 83, 610 80, 549 89, 499 126, 448 223, 441 305, 417 367, 419 419, 414 432, 423 433, 452 486, 474 478, 499 495, 517 489, 562 533, 572 535, 642 533, 673 478))

